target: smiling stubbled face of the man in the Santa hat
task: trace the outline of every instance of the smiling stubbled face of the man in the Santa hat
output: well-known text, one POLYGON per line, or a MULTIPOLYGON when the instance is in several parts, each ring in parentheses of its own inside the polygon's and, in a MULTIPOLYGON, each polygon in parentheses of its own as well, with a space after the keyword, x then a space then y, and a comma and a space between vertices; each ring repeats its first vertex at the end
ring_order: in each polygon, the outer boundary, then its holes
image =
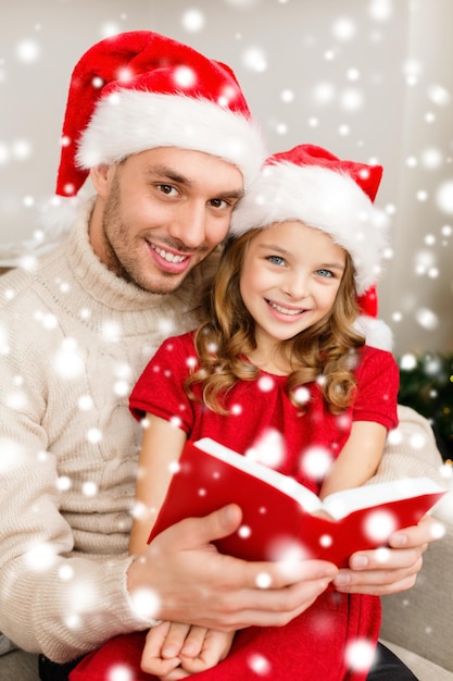
POLYGON ((97 189, 95 252, 126 281, 167 294, 225 238, 243 178, 218 158, 161 147, 104 169, 97 189))

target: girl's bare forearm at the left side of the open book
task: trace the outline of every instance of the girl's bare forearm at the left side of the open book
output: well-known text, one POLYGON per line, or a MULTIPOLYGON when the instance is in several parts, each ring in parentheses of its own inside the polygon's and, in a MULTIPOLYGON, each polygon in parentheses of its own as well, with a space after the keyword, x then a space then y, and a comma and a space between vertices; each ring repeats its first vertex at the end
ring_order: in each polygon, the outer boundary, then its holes
POLYGON ((141 553, 146 547, 172 480, 174 466, 187 439, 184 431, 160 417, 148 413, 146 423, 138 460, 129 554, 141 553))

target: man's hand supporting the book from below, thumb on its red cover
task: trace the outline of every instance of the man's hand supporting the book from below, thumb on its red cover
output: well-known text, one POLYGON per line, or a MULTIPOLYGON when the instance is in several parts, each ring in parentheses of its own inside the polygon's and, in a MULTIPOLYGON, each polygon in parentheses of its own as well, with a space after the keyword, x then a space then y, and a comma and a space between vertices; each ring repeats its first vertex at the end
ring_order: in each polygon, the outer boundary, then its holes
POLYGON ((130 565, 129 593, 151 590, 156 619, 207 629, 234 631, 292 620, 338 569, 324 560, 247 562, 218 554, 211 542, 235 532, 241 518, 240 508, 229 505, 162 532, 130 565))

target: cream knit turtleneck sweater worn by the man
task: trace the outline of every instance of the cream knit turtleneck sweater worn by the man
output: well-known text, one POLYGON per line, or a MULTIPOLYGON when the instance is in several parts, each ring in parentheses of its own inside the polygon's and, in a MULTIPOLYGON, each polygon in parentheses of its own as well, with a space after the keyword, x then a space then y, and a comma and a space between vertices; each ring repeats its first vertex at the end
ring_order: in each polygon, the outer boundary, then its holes
MULTIPOLYGON (((68 237, 0 278, 0 630, 66 661, 146 622, 126 589, 140 426, 128 410, 161 342, 196 323, 210 260, 176 293, 138 289, 68 237)), ((432 433, 400 411, 380 480, 437 476, 432 433), (415 433, 424 446, 410 447, 415 433)))

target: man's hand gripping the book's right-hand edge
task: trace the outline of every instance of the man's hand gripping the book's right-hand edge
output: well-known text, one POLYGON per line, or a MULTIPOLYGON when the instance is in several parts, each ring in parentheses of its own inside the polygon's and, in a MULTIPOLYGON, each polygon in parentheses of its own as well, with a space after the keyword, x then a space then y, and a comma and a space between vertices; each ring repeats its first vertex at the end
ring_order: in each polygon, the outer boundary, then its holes
POLYGON ((423 566, 423 554, 430 542, 442 535, 442 523, 430 516, 418 525, 394 532, 389 548, 353 554, 350 568, 334 580, 338 591, 382 596, 411 589, 423 566))

